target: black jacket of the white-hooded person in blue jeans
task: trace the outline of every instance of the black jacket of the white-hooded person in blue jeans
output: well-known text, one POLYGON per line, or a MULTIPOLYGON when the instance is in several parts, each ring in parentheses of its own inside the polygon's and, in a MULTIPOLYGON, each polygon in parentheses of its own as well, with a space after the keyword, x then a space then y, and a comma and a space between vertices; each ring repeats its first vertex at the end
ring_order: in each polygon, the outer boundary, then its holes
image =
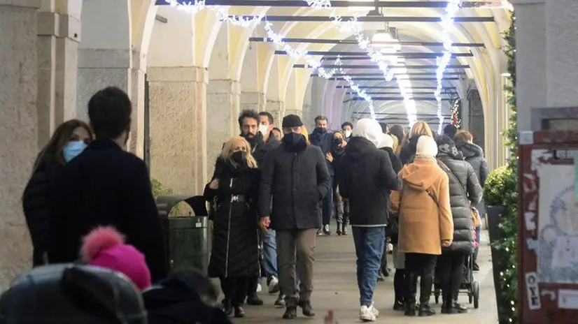
MULTIPOLYGON (((358 123, 355 130, 360 127, 358 123)), ((386 226, 388 196, 400 189, 389 155, 367 138, 354 136, 337 170, 339 193, 349 200, 351 226, 386 226)))

